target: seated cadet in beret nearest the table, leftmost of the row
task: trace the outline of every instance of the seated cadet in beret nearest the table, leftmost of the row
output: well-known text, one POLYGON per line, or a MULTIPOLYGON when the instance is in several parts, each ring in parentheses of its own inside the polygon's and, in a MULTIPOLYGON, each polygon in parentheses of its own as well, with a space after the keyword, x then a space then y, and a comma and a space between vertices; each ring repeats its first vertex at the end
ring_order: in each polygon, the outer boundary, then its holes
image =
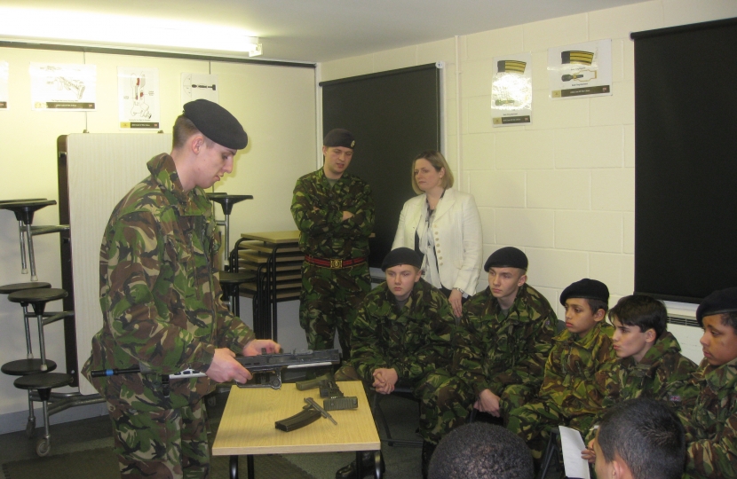
MULTIPOLYGON (((398 383, 420 401, 423 475, 440 438, 464 423, 472 394, 451 372, 456 329, 448 299, 422 279, 421 261, 408 247, 398 247, 381 265, 386 281, 366 294, 353 323, 351 359, 336 373, 337 381, 362 380, 379 394, 398 383)), ((364 458, 367 470, 372 454, 364 458)), ((368 475, 367 470, 367 475, 368 475)), ((352 463, 338 479, 355 477, 352 463)))

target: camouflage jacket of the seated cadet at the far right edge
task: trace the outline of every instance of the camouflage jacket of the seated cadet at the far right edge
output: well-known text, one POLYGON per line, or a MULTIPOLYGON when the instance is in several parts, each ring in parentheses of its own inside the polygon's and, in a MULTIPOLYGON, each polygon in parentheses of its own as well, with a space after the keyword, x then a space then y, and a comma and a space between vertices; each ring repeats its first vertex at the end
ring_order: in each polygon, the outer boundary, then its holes
POLYGON ((684 477, 737 477, 737 359, 721 366, 701 361, 693 375, 701 392, 686 427, 684 477))

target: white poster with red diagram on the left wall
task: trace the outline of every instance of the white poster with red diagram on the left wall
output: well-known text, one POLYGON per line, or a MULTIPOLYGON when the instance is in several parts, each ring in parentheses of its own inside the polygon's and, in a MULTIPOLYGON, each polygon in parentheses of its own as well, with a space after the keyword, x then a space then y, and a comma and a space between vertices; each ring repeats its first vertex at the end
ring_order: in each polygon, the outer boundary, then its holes
POLYGON ((158 68, 118 67, 120 128, 159 129, 158 68))

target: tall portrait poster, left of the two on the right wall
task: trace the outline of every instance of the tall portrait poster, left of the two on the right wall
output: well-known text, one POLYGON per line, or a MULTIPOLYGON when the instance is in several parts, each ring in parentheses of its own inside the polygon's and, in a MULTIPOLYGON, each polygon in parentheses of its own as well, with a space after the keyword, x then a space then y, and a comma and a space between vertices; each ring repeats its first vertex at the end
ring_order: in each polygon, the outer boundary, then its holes
POLYGON ((491 80, 491 121, 495 127, 532 120, 532 53, 494 59, 491 80))

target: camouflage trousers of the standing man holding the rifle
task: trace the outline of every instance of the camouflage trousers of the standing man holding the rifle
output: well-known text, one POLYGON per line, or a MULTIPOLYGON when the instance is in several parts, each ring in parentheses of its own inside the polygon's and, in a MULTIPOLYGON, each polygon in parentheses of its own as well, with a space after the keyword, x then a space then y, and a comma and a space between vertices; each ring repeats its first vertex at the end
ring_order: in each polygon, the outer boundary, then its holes
POLYGON ((128 404, 107 402, 121 477, 210 477, 204 404, 198 402, 178 409, 146 407, 143 411, 128 404))

